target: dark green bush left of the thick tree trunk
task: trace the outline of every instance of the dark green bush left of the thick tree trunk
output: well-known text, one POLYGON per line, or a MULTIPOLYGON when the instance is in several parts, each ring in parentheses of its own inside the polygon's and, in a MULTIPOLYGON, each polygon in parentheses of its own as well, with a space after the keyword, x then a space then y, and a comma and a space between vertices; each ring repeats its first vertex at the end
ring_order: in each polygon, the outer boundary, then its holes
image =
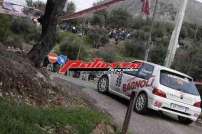
POLYGON ((20 48, 22 42, 36 42, 39 37, 40 29, 30 19, 0 15, 0 41, 5 45, 20 48))

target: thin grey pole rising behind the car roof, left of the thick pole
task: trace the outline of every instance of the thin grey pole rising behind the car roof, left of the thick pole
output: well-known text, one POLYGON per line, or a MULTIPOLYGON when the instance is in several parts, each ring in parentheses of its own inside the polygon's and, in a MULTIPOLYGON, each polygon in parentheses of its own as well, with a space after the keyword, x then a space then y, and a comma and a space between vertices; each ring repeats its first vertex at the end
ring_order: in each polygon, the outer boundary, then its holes
POLYGON ((154 20, 155 20, 155 16, 156 16, 157 5, 158 5, 158 0, 155 1, 154 11, 153 11, 152 20, 151 20, 151 27, 150 27, 150 32, 149 32, 149 39, 146 43, 146 51, 145 51, 145 58, 144 58, 145 61, 148 61, 149 52, 152 47, 152 32, 153 32, 153 28, 154 28, 154 20))

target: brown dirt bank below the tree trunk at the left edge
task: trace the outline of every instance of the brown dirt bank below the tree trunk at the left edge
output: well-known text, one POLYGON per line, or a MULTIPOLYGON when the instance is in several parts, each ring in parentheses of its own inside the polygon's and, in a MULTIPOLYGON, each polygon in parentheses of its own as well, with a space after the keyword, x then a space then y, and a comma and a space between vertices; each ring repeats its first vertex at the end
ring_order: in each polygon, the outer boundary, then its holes
POLYGON ((23 52, 14 50, 0 44, 0 96, 30 105, 64 103, 67 94, 50 81, 48 73, 33 67, 23 52))

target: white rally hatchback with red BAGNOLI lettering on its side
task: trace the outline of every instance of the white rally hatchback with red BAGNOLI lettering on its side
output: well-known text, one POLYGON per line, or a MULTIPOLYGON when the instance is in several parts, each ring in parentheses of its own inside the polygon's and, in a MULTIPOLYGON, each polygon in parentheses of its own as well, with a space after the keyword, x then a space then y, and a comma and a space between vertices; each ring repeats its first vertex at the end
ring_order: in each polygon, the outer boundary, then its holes
POLYGON ((136 92, 134 110, 145 114, 148 109, 176 115, 180 122, 190 124, 201 113, 201 98, 193 79, 178 71, 145 62, 133 71, 106 73, 98 80, 101 93, 113 93, 130 99, 136 92))

